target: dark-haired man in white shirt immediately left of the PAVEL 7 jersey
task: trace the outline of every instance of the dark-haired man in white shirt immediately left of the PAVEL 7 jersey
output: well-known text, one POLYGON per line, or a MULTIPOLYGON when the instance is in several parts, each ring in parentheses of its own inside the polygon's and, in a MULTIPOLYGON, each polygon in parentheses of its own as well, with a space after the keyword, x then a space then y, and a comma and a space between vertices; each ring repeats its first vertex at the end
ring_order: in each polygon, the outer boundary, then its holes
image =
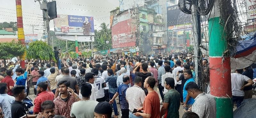
MULTIPOLYGON (((85 74, 85 79, 86 79, 86 83, 89 83, 92 85, 92 94, 90 96, 90 100, 94 100, 96 101, 96 95, 95 95, 95 88, 94 88, 94 78, 95 74, 92 72, 86 73, 85 74)), ((79 98, 82 99, 82 94, 81 91, 79 92, 79 98)))

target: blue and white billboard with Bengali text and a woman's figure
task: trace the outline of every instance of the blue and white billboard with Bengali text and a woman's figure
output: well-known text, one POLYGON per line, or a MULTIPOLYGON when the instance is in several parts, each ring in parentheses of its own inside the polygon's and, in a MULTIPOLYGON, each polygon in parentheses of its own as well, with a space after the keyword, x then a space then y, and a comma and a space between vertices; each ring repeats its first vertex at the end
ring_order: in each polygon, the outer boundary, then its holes
POLYGON ((94 35, 93 17, 58 14, 53 21, 55 35, 94 35))

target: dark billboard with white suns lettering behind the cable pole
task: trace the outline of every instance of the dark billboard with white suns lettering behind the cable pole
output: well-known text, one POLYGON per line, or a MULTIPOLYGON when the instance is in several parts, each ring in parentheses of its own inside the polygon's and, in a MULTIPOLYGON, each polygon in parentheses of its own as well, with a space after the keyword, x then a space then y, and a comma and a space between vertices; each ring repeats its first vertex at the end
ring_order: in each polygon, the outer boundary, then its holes
POLYGON ((191 23, 191 14, 180 11, 178 5, 167 7, 167 26, 191 23))

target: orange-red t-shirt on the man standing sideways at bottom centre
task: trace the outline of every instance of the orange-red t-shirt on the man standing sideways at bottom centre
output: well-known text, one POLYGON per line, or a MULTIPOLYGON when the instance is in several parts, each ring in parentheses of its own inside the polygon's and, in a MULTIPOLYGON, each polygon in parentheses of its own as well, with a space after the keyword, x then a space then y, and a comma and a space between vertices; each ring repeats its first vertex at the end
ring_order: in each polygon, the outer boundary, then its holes
POLYGON ((160 99, 156 91, 148 92, 145 97, 143 113, 151 114, 150 118, 160 118, 160 99))

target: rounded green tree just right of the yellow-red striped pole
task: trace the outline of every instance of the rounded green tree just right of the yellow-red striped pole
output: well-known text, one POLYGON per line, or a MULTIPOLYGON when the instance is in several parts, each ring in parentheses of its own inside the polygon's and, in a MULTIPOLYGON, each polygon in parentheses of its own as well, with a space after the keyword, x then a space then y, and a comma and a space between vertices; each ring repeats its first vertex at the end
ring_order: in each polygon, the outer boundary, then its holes
POLYGON ((29 43, 29 47, 27 50, 27 58, 41 60, 53 59, 54 61, 56 61, 54 58, 52 47, 44 41, 34 41, 29 43))

